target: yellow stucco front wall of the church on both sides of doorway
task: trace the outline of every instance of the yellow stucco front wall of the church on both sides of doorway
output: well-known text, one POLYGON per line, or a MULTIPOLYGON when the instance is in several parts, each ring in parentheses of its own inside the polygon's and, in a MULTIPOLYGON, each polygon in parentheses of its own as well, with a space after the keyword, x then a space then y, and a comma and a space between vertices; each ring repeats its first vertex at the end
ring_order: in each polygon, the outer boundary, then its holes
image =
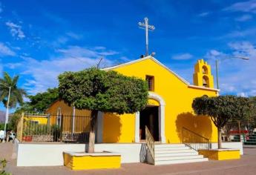
MULTIPOLYGON (((194 116, 191 104, 197 96, 217 96, 216 90, 205 90, 188 87, 165 67, 152 59, 144 59, 131 65, 116 67, 119 73, 126 76, 154 76, 154 93, 165 100, 165 139, 167 143, 178 143, 182 139, 182 127, 200 133, 217 142, 217 128, 206 116, 194 116)), ((192 76, 192 73, 191 73, 192 76)), ((113 117, 105 115, 103 142, 134 142, 135 114, 113 117), (116 128, 119 128, 116 134, 116 128), (118 135, 118 136, 117 136, 118 135)))

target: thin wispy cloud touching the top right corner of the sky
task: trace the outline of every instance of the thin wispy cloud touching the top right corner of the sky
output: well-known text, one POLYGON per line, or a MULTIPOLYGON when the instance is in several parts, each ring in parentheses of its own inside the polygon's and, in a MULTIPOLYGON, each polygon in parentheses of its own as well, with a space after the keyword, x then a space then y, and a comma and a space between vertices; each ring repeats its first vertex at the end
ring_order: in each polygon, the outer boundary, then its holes
POLYGON ((232 12, 256 13, 256 0, 237 2, 229 7, 224 8, 223 10, 232 12))

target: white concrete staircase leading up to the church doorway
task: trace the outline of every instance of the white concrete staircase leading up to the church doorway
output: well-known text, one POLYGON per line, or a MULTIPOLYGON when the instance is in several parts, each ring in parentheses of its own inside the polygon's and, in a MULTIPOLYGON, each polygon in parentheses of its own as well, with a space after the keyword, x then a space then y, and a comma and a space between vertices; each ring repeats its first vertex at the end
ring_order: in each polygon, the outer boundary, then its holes
POLYGON ((188 162, 205 162, 208 158, 184 144, 155 144, 154 165, 170 165, 188 162))

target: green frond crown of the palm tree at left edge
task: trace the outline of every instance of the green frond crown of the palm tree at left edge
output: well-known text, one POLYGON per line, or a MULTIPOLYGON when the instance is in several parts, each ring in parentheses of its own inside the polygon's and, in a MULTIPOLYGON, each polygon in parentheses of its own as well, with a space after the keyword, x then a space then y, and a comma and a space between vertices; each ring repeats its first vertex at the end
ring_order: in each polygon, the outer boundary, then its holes
POLYGON ((23 96, 27 93, 24 89, 17 87, 19 76, 14 76, 13 79, 7 72, 4 72, 4 77, 0 78, 0 101, 4 103, 7 108, 7 98, 10 87, 10 102, 9 108, 15 108, 17 104, 22 105, 23 96))

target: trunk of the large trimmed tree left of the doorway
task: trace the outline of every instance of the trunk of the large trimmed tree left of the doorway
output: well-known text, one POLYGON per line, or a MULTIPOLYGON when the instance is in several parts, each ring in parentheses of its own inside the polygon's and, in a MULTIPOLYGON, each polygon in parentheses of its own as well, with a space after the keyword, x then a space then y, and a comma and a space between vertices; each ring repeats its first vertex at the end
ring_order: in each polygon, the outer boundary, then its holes
POLYGON ((91 111, 91 129, 90 129, 90 136, 89 136, 88 153, 94 153, 97 117, 98 117, 98 110, 92 110, 91 111))

